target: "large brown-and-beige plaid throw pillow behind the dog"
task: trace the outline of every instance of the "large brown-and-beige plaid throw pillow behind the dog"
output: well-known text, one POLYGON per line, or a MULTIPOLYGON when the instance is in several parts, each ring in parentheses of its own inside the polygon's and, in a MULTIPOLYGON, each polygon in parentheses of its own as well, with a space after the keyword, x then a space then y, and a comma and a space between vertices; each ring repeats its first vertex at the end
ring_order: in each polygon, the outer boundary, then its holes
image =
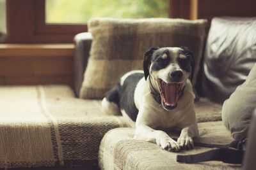
POLYGON ((143 53, 152 46, 187 46, 195 54, 196 81, 205 24, 170 18, 90 20, 93 42, 79 96, 102 99, 124 73, 143 68, 143 53))

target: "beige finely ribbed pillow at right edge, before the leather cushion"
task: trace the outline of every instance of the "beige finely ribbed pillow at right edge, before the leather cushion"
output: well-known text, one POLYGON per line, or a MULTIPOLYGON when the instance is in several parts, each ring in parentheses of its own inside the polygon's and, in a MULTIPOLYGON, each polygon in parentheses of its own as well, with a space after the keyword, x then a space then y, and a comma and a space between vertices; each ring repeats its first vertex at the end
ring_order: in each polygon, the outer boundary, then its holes
POLYGON ((234 139, 243 140, 248 134, 253 110, 256 108, 256 64, 246 81, 237 87, 223 103, 222 119, 234 139))

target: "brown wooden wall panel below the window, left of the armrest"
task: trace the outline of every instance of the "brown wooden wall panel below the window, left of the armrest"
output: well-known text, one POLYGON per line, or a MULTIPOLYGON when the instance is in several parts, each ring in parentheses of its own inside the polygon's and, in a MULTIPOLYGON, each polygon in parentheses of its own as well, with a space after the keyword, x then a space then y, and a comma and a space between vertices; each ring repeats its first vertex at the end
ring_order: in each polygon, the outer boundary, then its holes
POLYGON ((74 45, 0 45, 0 85, 72 85, 74 45))

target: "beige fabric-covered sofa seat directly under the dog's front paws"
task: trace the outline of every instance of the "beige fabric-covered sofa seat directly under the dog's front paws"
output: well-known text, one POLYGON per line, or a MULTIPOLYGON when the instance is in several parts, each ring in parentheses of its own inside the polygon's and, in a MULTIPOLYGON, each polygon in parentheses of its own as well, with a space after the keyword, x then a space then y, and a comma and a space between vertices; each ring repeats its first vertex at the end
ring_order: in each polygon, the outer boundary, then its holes
MULTIPOLYGON (((200 136, 195 141, 225 145, 232 138, 222 122, 198 124, 200 136)), ((241 166, 211 161, 200 164, 176 162, 177 154, 195 154, 212 148, 195 147, 179 153, 167 152, 155 143, 133 139, 134 129, 118 128, 109 131, 100 144, 101 169, 241 169, 241 166)), ((172 136, 172 135, 170 135, 172 136)))

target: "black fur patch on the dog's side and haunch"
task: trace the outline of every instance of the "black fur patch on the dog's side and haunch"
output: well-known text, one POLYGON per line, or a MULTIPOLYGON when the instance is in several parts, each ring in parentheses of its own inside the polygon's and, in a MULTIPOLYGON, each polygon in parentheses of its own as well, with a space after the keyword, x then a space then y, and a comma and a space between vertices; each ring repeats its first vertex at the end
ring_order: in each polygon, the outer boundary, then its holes
POLYGON ((124 110, 134 122, 136 122, 138 115, 138 109, 134 103, 134 91, 143 76, 143 73, 134 73, 127 76, 123 85, 120 82, 116 83, 115 87, 109 90, 105 96, 108 101, 116 103, 120 110, 124 110))

